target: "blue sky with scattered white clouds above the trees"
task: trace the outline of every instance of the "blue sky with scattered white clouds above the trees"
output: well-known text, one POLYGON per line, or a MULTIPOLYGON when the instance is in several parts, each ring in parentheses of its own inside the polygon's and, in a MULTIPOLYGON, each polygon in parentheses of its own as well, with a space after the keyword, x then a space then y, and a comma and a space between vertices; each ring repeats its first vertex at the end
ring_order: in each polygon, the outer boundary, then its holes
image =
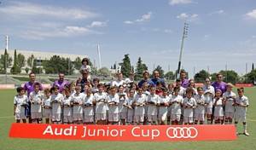
POLYGON ((255 0, 0 0, 0 49, 98 57, 110 67, 129 54, 148 70, 177 70, 183 24, 189 23, 182 66, 190 78, 201 69, 235 70, 256 62, 255 0))

